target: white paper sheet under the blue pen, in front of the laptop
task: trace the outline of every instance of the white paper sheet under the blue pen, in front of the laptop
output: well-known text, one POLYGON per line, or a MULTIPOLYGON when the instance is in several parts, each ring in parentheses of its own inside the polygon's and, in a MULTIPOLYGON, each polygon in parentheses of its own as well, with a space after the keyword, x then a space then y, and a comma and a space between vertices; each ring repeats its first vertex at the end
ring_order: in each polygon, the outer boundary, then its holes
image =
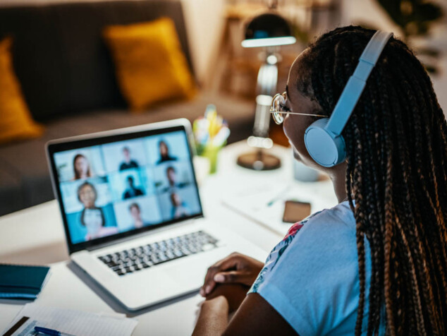
MULTIPOLYGON (((46 307, 39 304, 26 304, 11 325, 16 324, 23 316, 39 321, 46 328, 76 336, 130 336, 137 326, 137 320, 132 318, 104 316, 104 314, 46 307)), ((6 330, 9 328, 11 326, 6 330)))

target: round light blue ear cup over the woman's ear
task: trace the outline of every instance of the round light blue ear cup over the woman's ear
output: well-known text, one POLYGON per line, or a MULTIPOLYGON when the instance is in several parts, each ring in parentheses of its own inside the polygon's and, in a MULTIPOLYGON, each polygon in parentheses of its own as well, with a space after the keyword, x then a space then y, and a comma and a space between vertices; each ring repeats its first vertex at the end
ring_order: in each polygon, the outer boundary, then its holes
POLYGON ((326 129, 329 118, 314 121, 307 127, 304 142, 312 159, 323 167, 333 167, 346 158, 345 140, 326 129))

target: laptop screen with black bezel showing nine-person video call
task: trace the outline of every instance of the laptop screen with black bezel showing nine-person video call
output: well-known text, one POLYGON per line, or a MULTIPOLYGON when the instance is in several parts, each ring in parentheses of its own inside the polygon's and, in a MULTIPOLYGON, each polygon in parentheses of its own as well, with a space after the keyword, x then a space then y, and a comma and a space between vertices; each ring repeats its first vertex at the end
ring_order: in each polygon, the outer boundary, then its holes
POLYGON ((48 149, 71 252, 202 215, 183 126, 48 149))

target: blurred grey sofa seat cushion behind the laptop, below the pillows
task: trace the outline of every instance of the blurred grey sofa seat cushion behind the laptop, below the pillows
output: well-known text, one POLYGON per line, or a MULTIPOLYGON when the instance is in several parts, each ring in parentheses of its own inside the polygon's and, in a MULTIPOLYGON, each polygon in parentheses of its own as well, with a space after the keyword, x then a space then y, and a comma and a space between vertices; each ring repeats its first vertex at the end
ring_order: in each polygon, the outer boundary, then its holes
POLYGON ((159 105, 142 114, 113 109, 65 116, 45 124, 47 131, 42 138, 0 146, 0 215, 54 198, 44 152, 47 141, 166 119, 192 121, 204 113, 209 103, 216 104, 218 113, 228 121, 232 132, 229 142, 250 135, 253 103, 202 92, 190 102, 159 105))

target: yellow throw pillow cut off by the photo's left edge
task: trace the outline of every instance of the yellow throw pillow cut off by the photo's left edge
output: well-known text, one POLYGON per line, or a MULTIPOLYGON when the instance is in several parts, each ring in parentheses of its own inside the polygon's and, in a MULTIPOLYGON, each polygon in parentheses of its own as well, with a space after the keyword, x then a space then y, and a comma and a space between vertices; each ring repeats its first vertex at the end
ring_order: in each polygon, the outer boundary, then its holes
POLYGON ((11 44, 0 41, 0 144, 41 136, 44 128, 32 120, 20 83, 13 70, 11 44))

